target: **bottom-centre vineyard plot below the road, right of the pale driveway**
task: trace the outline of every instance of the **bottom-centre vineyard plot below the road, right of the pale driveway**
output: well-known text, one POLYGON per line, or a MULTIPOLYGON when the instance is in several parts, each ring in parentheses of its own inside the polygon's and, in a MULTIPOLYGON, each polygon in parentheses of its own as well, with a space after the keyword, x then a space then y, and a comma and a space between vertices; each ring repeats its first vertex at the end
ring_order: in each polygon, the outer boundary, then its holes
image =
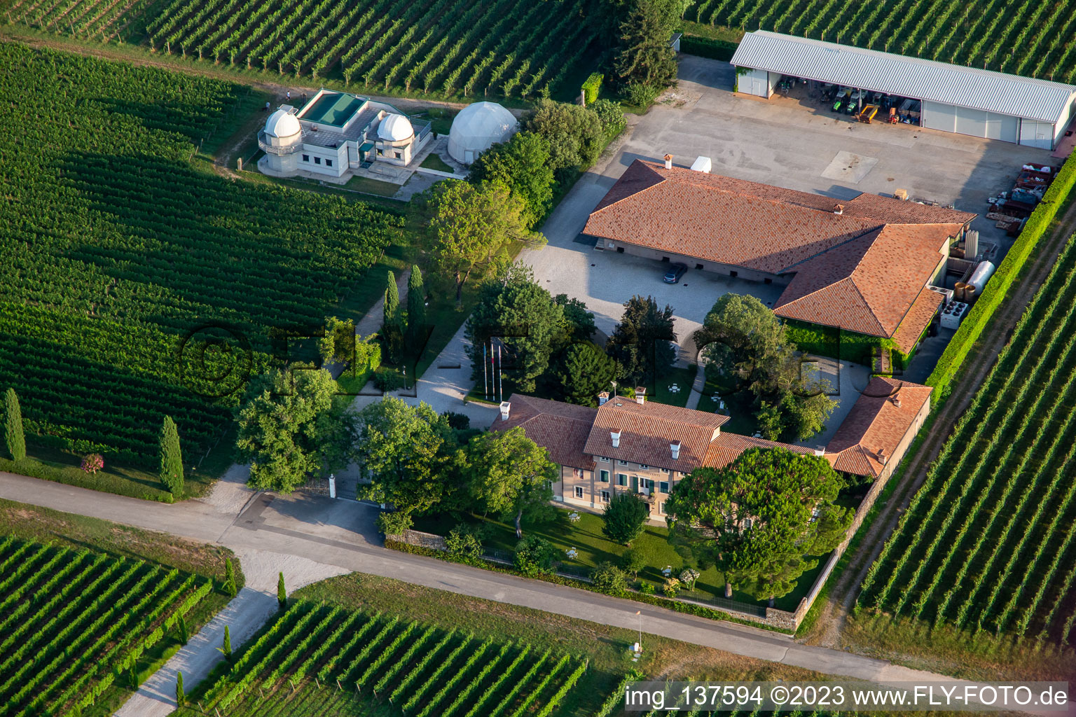
POLYGON ((549 717, 586 666, 524 643, 296 601, 195 697, 229 716, 549 717))

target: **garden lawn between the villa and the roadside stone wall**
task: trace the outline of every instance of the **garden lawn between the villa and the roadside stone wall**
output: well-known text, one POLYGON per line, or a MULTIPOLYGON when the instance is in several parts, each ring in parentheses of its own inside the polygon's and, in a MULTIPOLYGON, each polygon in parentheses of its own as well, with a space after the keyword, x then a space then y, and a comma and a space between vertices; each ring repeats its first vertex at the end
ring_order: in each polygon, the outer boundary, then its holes
MULTIPOLYGON (((557 506, 553 510, 549 520, 535 521, 524 518, 523 532, 525 534, 540 535, 555 545, 563 556, 561 560, 565 565, 566 572, 585 575, 600 562, 609 561, 620 564, 621 556, 623 556, 627 548, 609 541, 603 535, 601 516, 577 511, 579 520, 572 522, 568 520, 568 515, 572 512, 569 508, 557 506), (569 548, 576 548, 578 551, 574 560, 567 558, 566 551, 569 548)), ((511 559, 510 554, 515 547, 516 539, 515 529, 510 522, 483 518, 475 514, 465 514, 462 519, 475 526, 484 526, 483 529, 487 531, 487 537, 483 541, 485 547, 497 551, 498 557, 511 559)), ((414 528, 415 530, 444 535, 459 525, 459 517, 451 514, 425 516, 415 519, 414 528)), ((655 586, 659 594, 661 585, 665 582, 662 569, 666 565, 671 565, 672 574, 679 575, 680 571, 686 567, 683 558, 677 555, 676 550, 668 544, 667 535, 668 528, 665 526, 648 525, 642 535, 633 543, 633 547, 642 550, 647 557, 647 568, 639 573, 639 579, 655 586)), ((824 563, 824 557, 820 558, 819 565, 824 563)), ((821 568, 817 568, 813 571, 805 573, 799 578, 796 588, 788 596, 779 598, 775 606, 780 610, 795 610, 799 604, 799 600, 810 589, 815 576, 820 570, 821 568)), ((725 584, 721 573, 716 568, 709 568, 702 571, 702 576, 695 584, 694 592, 682 592, 681 597, 699 601, 723 598, 725 584)), ((733 600, 755 605, 765 604, 738 590, 733 591, 733 600)))

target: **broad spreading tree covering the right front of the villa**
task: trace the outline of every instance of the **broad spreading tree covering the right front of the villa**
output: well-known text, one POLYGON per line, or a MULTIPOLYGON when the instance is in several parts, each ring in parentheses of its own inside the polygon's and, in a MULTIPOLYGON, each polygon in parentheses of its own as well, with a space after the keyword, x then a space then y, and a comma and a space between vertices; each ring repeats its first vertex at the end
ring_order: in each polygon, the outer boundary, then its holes
POLYGON ((721 469, 684 476, 665 503, 669 542, 758 599, 789 593, 844 539, 850 508, 834 504, 841 478, 821 456, 750 448, 721 469))

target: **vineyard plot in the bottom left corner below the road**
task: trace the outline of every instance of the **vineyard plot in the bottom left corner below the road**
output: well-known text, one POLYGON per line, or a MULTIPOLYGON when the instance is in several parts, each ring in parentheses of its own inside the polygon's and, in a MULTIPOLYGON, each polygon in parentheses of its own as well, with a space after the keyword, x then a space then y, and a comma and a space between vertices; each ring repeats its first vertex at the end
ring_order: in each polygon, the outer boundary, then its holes
POLYGON ((0 716, 76 715, 126 679, 212 580, 87 549, 0 539, 0 716))

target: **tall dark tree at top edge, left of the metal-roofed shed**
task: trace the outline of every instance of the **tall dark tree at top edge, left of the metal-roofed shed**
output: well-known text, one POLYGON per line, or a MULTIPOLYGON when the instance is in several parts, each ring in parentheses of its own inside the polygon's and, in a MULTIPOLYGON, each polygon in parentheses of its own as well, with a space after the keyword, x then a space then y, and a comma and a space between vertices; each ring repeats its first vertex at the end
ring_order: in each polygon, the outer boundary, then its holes
POLYGON ((680 19, 681 0, 629 0, 625 10, 613 59, 621 86, 668 87, 676 82, 676 53, 669 39, 680 19))

